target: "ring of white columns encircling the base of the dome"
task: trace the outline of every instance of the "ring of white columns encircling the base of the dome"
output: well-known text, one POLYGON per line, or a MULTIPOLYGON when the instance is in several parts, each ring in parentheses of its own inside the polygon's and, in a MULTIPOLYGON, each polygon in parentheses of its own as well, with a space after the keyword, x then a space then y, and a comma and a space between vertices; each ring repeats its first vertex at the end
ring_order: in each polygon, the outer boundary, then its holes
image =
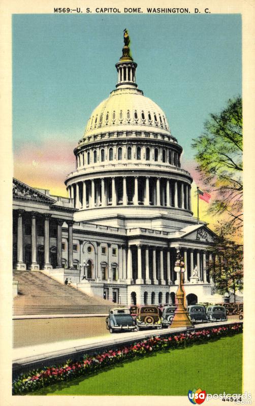
POLYGON ((190 185, 181 181, 155 177, 128 177, 131 199, 127 193, 127 177, 91 179, 68 187, 69 197, 75 199, 77 209, 107 206, 163 206, 191 210, 190 185), (116 179, 118 185, 116 185, 116 179), (139 184, 139 179, 141 182, 139 184), (145 179, 145 182, 143 181, 145 179), (120 185, 120 182, 122 183, 120 185), (131 183, 130 183, 131 182, 131 183), (119 198, 119 188, 121 196, 119 198), (139 189, 140 196, 139 199, 139 189), (110 191, 110 192, 109 192, 110 191))

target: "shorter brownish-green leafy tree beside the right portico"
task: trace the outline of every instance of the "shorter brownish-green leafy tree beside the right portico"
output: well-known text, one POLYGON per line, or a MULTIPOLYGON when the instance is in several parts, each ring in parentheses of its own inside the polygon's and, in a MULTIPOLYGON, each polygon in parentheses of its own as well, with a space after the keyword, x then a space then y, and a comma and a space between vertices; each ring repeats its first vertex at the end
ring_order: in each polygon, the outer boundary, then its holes
POLYGON ((216 227, 214 247, 211 252, 214 260, 208 262, 208 269, 217 291, 221 294, 234 294, 243 289, 243 247, 231 240, 236 233, 234 226, 219 223, 216 227))

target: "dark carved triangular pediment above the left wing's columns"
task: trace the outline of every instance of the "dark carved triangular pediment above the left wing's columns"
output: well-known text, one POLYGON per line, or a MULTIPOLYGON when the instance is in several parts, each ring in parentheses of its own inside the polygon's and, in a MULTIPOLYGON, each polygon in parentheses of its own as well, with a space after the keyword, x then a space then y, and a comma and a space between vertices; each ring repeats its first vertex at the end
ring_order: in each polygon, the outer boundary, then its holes
POLYGON ((55 202, 54 199, 39 192, 37 189, 34 189, 33 187, 28 186, 25 183, 20 182, 19 180, 14 178, 12 182, 12 196, 13 199, 37 201, 50 205, 55 202))

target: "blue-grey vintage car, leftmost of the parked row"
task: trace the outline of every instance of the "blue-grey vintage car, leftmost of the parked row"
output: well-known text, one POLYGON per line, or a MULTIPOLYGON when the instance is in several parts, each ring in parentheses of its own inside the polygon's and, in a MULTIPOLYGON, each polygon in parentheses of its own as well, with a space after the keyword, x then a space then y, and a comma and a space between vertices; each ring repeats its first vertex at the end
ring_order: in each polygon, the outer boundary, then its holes
POLYGON ((106 328, 113 333, 114 331, 131 330, 136 328, 135 321, 127 308, 111 309, 106 318, 106 328))

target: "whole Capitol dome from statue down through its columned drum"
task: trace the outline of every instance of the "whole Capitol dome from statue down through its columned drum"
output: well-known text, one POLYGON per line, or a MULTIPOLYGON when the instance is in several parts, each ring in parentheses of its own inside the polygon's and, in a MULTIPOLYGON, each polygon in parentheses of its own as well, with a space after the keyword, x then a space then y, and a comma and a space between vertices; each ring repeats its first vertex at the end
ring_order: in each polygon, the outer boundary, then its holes
POLYGON ((74 150, 76 170, 66 179, 76 221, 128 226, 128 218, 192 217, 192 178, 181 168, 182 147, 163 110, 136 84, 129 41, 115 64, 116 89, 96 107, 74 150), (123 220, 119 220, 119 216, 123 220))

